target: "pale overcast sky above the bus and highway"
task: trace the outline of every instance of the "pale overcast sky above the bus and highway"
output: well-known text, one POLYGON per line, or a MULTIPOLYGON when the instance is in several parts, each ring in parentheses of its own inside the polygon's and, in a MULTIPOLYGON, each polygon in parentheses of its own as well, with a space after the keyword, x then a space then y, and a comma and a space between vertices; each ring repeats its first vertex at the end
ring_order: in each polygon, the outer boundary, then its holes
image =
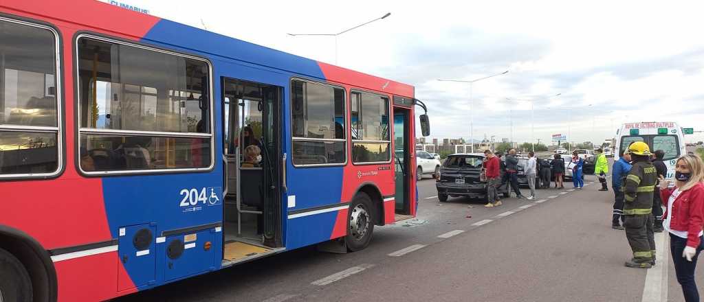
POLYGON ((431 138, 469 138, 474 112, 475 139, 509 138, 513 117, 513 138, 529 141, 527 100, 541 142, 568 132, 572 141, 602 142, 623 122, 672 121, 704 130, 704 2, 122 2, 332 64, 333 37, 287 33, 341 32, 390 12, 340 35, 337 65, 415 86, 416 98, 428 105, 431 138), (505 70, 474 83, 473 102, 468 84, 436 80, 505 70))

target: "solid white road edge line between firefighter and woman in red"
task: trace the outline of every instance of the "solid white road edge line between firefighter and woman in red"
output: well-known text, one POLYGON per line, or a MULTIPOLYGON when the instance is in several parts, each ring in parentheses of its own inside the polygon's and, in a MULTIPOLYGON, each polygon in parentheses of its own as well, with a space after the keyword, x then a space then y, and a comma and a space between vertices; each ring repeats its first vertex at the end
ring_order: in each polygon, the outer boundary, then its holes
POLYGON ((658 254, 655 254, 655 266, 649 268, 646 273, 641 299, 643 302, 667 301, 667 256, 670 255, 670 242, 667 239, 670 237, 664 234, 667 232, 655 233, 655 251, 658 251, 658 254))

